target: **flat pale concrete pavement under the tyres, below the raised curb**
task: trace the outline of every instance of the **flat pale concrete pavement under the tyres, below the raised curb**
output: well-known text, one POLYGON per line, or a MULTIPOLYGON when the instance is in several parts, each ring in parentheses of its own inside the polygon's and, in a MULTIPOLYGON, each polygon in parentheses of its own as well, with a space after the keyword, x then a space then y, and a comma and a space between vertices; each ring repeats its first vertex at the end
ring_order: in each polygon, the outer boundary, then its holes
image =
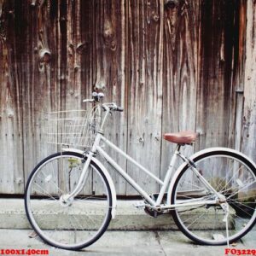
MULTIPOLYGON (((216 256, 225 255, 226 246, 199 246, 189 241, 179 231, 107 231, 100 240, 80 252, 50 247, 38 238, 30 238, 31 230, 0 230, 1 249, 48 249, 49 255, 160 255, 160 256, 216 256)), ((255 249, 254 228, 232 249, 255 249)), ((231 255, 231 254, 230 254, 231 255)))

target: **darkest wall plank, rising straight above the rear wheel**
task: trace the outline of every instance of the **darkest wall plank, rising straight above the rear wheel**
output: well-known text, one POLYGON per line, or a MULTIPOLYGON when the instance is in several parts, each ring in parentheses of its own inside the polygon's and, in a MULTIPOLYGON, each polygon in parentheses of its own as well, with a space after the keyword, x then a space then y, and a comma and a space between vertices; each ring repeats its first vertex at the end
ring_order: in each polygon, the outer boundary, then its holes
POLYGON ((238 2, 202 1, 197 90, 197 149, 227 146, 233 97, 233 54, 237 44, 238 2), (234 21, 235 20, 235 21, 234 21))

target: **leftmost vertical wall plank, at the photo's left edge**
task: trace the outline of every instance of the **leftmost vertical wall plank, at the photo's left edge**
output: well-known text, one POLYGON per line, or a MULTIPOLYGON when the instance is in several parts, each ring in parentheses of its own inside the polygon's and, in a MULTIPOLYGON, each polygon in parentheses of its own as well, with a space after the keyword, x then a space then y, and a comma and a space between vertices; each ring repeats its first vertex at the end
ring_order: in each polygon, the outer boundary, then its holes
MULTIPOLYGON (((21 87, 22 67, 16 41, 22 20, 20 3, 1 2, 0 6, 0 193, 24 193, 21 87)), ((21 46, 20 46, 21 47, 21 46)))

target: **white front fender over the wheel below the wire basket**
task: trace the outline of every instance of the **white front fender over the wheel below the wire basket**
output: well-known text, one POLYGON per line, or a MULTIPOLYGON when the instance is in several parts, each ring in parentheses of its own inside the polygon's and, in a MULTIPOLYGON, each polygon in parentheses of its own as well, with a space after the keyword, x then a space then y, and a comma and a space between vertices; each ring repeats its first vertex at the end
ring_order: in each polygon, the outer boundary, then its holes
MULTIPOLYGON (((68 151, 68 152, 74 152, 74 153, 78 153, 78 154, 84 154, 83 150, 77 149, 77 148, 61 148, 62 151, 68 151)), ((116 212, 116 191, 113 185, 113 180, 111 178, 111 176, 109 175, 108 170, 105 168, 105 166, 102 165, 102 163, 97 160, 95 157, 92 157, 91 159, 93 162, 96 163, 97 166, 99 166, 102 169, 102 172, 104 173, 104 175, 106 176, 108 183, 109 183, 109 187, 111 190, 111 195, 112 195, 112 210, 111 210, 111 217, 114 218, 115 217, 115 212, 116 212)))

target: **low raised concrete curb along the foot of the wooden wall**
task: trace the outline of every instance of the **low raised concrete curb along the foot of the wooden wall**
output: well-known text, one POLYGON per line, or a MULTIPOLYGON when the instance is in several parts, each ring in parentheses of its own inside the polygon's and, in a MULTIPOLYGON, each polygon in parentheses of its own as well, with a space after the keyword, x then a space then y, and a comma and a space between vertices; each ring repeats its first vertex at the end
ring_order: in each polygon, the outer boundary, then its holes
MULTIPOLYGON (((140 201, 117 201, 117 210, 116 216, 110 222, 108 230, 177 230, 177 225, 174 223, 171 214, 163 214, 158 218, 153 218, 146 214, 143 209, 137 209, 134 207, 140 201)), ((51 204, 50 201, 33 201, 34 209, 37 209, 37 216, 41 220, 44 218, 50 219, 51 222, 58 221, 60 223, 60 218, 56 205, 51 204), (45 205, 47 204, 47 205, 45 205), (45 212, 45 208, 49 209, 48 212, 45 212)), ((57 205, 58 206, 58 205, 57 205)), ((195 216, 201 215, 201 209, 197 212, 194 211, 195 216)), ((191 213, 189 213, 191 214, 191 213)), ((90 216, 90 219, 93 220, 91 223, 99 225, 102 212, 97 211, 96 205, 91 204, 87 205, 84 208, 84 204, 76 205, 73 209, 73 216, 81 220, 83 223, 84 216, 90 216)), ((212 218, 208 215, 207 219, 201 222, 201 227, 203 229, 211 228, 216 217, 216 212, 212 209, 212 218)), ((50 223, 51 223, 50 222, 50 223)), ((63 219, 64 222, 64 219, 63 219)), ((50 224, 48 221, 45 221, 45 224, 50 224)), ((67 225, 67 224, 66 224, 67 225)), ((30 224, 26 218, 26 212, 24 207, 23 199, 0 199, 0 229, 29 229, 30 224)), ((44 227, 48 228, 48 227, 44 227)), ((224 228, 224 223, 222 228, 224 228)))

